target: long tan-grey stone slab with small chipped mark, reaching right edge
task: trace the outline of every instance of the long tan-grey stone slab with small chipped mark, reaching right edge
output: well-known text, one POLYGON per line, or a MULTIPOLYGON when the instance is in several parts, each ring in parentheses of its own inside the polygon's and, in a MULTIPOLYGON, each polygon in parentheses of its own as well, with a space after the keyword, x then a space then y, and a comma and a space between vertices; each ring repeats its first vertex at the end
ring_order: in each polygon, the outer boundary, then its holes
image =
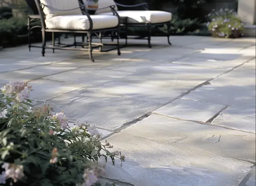
POLYGON ((131 135, 255 161, 255 135, 151 115, 123 129, 131 135))

